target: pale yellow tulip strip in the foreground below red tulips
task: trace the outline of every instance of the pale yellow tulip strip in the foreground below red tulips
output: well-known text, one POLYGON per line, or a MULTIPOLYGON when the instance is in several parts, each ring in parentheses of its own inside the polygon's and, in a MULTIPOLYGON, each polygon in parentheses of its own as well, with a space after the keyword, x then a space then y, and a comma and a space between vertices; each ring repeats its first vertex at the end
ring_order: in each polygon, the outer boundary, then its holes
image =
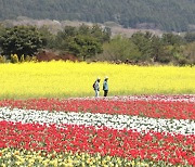
POLYGON ((8 166, 51 166, 51 167, 86 167, 86 166, 143 166, 152 165, 167 166, 171 165, 165 162, 153 163, 148 160, 128 160, 117 156, 101 156, 99 153, 91 155, 88 153, 73 152, 44 152, 29 151, 24 149, 0 149, 0 164, 2 167, 8 166))

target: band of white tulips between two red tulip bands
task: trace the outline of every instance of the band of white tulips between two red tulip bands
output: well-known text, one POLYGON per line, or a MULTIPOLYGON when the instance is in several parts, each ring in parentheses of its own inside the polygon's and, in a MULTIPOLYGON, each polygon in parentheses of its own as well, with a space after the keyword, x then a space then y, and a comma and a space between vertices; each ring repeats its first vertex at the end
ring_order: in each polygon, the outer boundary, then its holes
POLYGON ((101 128, 102 126, 114 129, 132 129, 139 132, 170 132, 180 134, 195 134, 195 120, 188 119, 161 119, 128 115, 109 115, 74 112, 48 112, 20 108, 0 108, 0 120, 39 123, 39 124, 68 124, 84 125, 101 128))

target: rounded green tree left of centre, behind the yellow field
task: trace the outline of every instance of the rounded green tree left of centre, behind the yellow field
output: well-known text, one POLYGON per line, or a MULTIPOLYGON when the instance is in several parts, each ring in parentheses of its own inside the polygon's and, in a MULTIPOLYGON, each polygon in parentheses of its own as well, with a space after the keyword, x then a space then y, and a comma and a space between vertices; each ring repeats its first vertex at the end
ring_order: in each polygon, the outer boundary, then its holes
POLYGON ((56 35, 55 43, 57 49, 86 60, 103 51, 103 41, 107 40, 105 36, 107 33, 99 26, 66 26, 56 35))

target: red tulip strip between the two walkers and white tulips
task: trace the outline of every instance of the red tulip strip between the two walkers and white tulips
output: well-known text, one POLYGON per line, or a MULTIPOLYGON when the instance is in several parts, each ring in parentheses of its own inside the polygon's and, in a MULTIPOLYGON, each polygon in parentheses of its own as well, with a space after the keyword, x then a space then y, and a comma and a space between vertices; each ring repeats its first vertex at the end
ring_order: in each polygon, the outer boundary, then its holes
POLYGON ((0 106, 38 111, 64 111, 101 114, 134 115, 153 118, 176 118, 195 120, 195 95, 129 97, 113 99, 30 99, 2 100, 0 106), (159 99, 159 100, 158 100, 159 99), (164 101, 165 100, 165 101, 164 101))

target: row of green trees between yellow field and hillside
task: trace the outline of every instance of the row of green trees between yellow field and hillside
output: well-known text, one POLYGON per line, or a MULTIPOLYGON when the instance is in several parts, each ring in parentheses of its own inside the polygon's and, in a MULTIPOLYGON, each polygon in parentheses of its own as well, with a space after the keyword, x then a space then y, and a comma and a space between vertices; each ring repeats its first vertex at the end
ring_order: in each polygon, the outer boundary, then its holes
POLYGON ((99 25, 66 26, 56 35, 43 26, 0 26, 0 54, 11 60, 36 55, 42 49, 70 53, 80 61, 108 61, 147 64, 195 64, 195 33, 184 36, 166 33, 161 37, 150 31, 130 38, 112 37, 107 27, 99 25))

